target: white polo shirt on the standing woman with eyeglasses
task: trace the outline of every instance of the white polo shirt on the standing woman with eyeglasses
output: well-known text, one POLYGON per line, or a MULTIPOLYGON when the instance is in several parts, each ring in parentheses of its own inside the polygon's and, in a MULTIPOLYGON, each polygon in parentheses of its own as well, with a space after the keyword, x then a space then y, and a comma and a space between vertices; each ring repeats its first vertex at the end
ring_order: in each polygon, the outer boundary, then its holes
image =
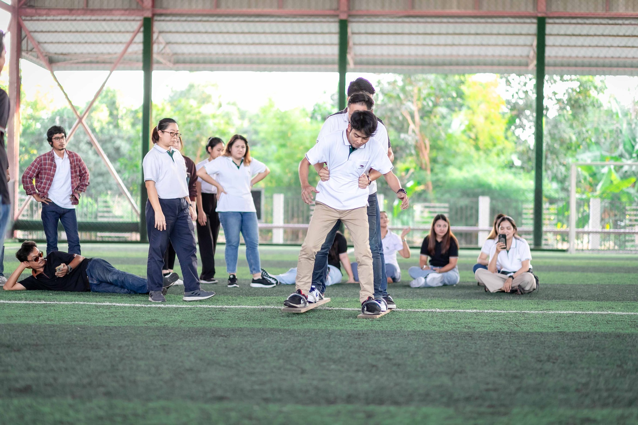
POLYGON ((177 199, 188 196, 186 184, 186 162, 179 150, 159 147, 157 143, 145 155, 142 161, 144 181, 155 182, 155 189, 160 199, 177 199), (171 157, 168 152, 173 152, 171 157))

